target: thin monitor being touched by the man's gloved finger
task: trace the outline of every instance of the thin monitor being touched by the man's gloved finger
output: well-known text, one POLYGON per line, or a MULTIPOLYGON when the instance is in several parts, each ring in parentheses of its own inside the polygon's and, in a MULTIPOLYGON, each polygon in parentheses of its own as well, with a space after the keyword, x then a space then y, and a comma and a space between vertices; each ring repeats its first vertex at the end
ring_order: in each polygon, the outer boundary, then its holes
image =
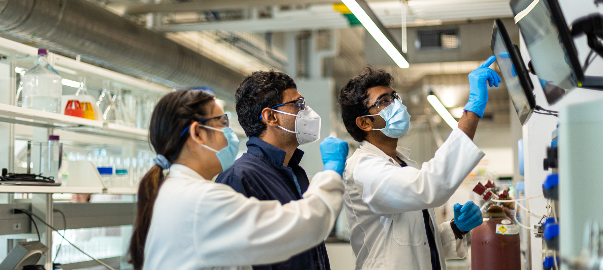
POLYGON ((507 28, 500 19, 494 20, 490 48, 496 56, 496 63, 505 80, 519 121, 524 125, 536 107, 534 93, 532 93, 534 86, 519 54, 519 48, 511 42, 507 28))

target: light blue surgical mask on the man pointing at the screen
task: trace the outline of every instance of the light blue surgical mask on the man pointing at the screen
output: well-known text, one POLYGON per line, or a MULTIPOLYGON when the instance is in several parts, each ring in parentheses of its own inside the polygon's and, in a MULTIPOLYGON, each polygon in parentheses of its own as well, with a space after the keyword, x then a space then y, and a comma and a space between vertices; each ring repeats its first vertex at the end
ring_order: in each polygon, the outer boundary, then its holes
POLYGON ((380 130, 385 136, 390 138, 402 137, 408 131, 408 128, 411 127, 411 115, 408 114, 406 106, 398 99, 394 99, 392 104, 380 110, 377 115, 385 120, 385 128, 373 128, 373 130, 380 130))

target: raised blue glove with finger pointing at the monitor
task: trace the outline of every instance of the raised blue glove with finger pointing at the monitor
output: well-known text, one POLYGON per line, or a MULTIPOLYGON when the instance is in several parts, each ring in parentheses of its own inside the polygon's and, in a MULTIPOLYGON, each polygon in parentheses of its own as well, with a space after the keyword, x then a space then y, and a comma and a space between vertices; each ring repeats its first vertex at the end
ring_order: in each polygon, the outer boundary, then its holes
POLYGON ((490 87, 498 87, 500 76, 491 68, 488 68, 494 63, 496 57, 492 55, 479 68, 469 74, 469 102, 465 105, 464 110, 473 111, 479 117, 484 116, 486 103, 488 102, 488 84, 490 87))

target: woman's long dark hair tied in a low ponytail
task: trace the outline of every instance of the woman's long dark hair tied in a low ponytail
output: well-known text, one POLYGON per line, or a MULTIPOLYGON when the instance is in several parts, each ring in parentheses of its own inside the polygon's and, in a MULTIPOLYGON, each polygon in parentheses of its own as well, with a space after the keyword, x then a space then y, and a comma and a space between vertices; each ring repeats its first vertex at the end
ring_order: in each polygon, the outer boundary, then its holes
MULTIPOLYGON (((169 162, 177 159, 189 136, 188 133, 180 136, 180 133, 193 121, 207 118, 211 109, 207 105, 211 101, 213 96, 201 90, 180 90, 163 96, 153 110, 149 127, 149 141, 155 152, 165 156, 169 162)), ((142 177, 138 187, 136 222, 128 249, 130 263, 136 270, 142 269, 144 263, 153 205, 164 180, 163 169, 155 165, 142 177)))

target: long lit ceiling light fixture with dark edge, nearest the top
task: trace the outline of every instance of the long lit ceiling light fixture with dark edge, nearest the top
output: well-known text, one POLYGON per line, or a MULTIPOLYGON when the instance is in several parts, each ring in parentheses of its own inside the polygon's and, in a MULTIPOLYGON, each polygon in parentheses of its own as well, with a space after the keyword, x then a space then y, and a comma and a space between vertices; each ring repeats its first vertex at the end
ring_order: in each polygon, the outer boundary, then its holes
POLYGON ((358 19, 368 33, 381 45, 381 47, 390 55, 391 59, 403 69, 409 68, 408 61, 402 55, 402 48, 396 39, 391 36, 390 32, 381 23, 379 18, 374 14, 373 10, 368 7, 365 0, 342 0, 346 7, 352 11, 356 19, 358 19))

